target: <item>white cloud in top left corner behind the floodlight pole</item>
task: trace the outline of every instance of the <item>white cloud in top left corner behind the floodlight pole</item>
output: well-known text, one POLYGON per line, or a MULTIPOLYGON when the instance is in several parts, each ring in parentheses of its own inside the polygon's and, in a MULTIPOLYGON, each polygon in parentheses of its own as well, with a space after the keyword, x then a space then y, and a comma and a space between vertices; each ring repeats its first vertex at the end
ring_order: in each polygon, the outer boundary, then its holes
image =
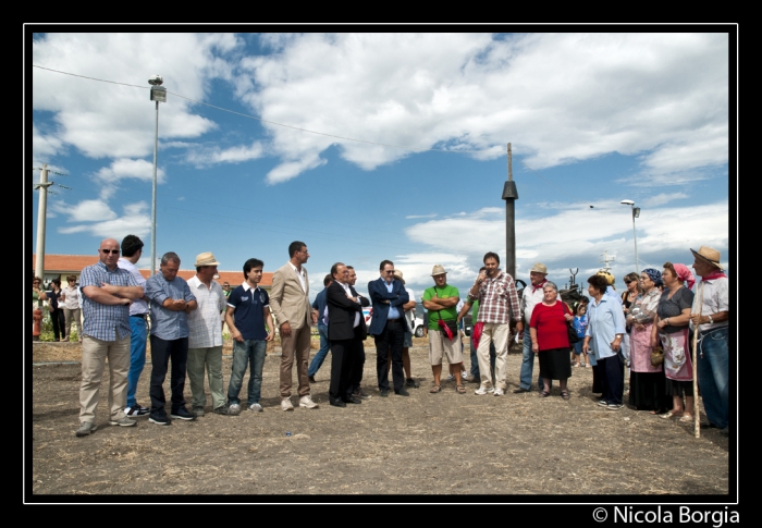
MULTIPOLYGON (((54 139, 73 145, 85 156, 147 156, 153 150, 156 119, 148 76, 159 73, 168 90, 202 100, 212 78, 232 78, 232 66, 214 52, 228 53, 236 46, 236 38, 229 34, 49 33, 33 42, 34 64, 146 89, 35 67, 33 107, 54 112, 54 139)), ((216 126, 194 115, 192 107, 186 99, 168 95, 159 110, 162 139, 198 137, 216 126)))

